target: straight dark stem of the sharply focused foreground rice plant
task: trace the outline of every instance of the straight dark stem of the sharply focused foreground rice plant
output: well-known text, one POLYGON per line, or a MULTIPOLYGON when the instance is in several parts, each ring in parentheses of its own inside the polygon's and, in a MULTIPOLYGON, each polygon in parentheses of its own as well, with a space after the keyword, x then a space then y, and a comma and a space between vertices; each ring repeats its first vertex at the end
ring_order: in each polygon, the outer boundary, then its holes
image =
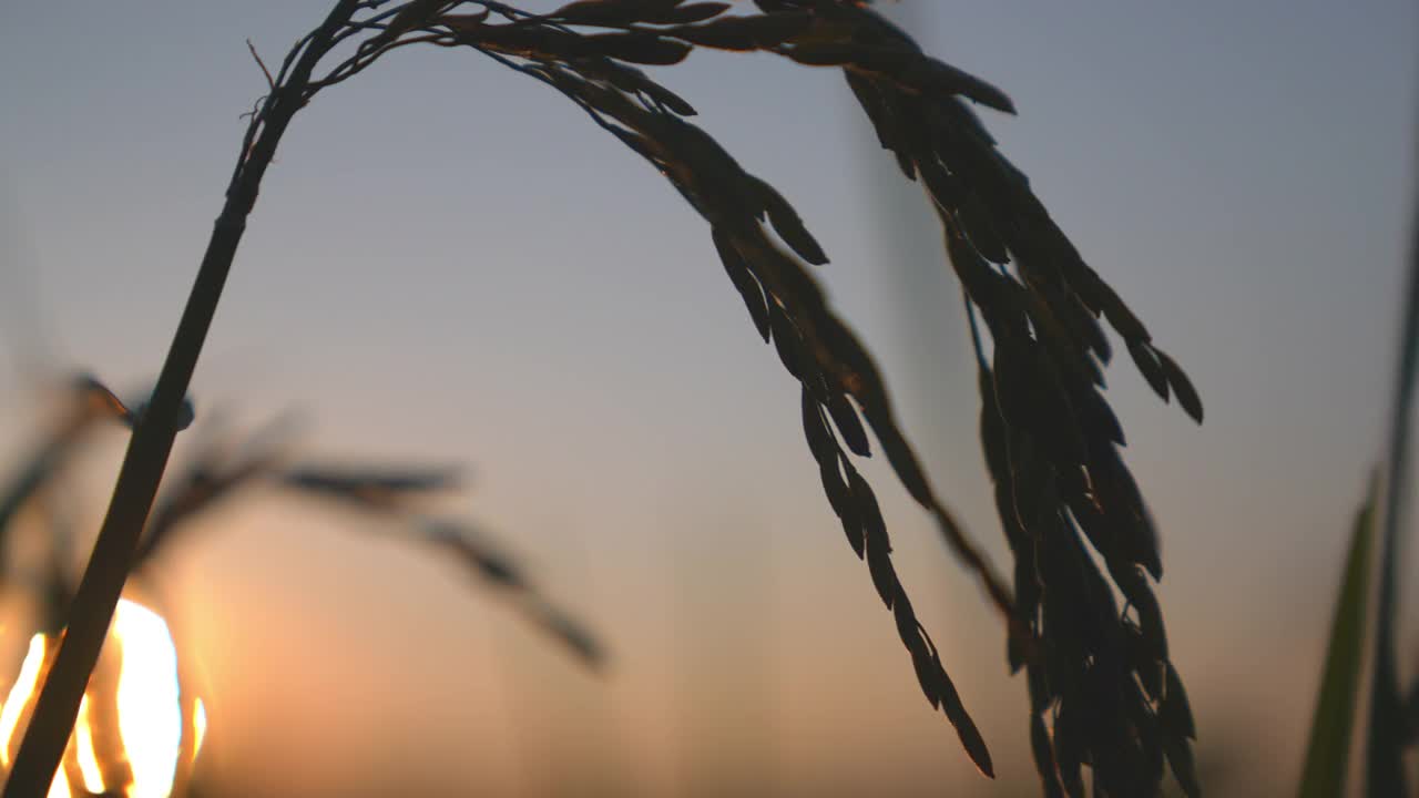
POLYGON ((311 71, 329 51, 333 35, 358 7, 358 0, 341 0, 335 6, 325 23, 304 41, 304 47, 297 48, 299 60, 289 78, 281 85, 272 85, 271 94, 253 114, 241 156, 227 186, 226 203, 214 223, 152 402, 129 442, 104 525, 74 595, 58 655, 16 754, 4 798, 43 795, 54 781, 74 730, 79 701, 128 579, 143 523, 158 494, 158 483, 167 466, 187 385, 217 311, 237 244, 245 231, 247 216, 255 206, 261 177, 287 125, 305 104, 304 92, 311 71))

